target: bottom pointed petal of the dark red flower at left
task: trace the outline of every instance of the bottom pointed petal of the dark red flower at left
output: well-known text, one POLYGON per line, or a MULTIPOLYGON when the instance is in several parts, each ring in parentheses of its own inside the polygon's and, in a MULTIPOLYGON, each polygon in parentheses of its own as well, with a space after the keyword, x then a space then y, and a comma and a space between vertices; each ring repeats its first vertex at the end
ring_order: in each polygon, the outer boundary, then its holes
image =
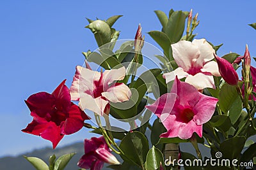
POLYGON ((56 148, 60 140, 64 137, 63 134, 60 134, 60 126, 57 126, 53 122, 47 124, 47 129, 40 133, 40 136, 51 141, 53 148, 56 148))

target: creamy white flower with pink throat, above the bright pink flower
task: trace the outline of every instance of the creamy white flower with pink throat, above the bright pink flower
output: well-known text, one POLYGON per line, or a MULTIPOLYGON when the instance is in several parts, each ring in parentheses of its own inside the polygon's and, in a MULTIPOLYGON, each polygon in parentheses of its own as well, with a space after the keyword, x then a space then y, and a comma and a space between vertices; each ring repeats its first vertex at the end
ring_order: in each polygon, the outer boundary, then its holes
POLYGON ((163 74, 166 83, 175 79, 186 78, 185 82, 198 90, 206 87, 215 89, 213 76, 220 76, 214 59, 214 49, 205 39, 179 41, 172 45, 173 59, 179 66, 170 73, 163 74))

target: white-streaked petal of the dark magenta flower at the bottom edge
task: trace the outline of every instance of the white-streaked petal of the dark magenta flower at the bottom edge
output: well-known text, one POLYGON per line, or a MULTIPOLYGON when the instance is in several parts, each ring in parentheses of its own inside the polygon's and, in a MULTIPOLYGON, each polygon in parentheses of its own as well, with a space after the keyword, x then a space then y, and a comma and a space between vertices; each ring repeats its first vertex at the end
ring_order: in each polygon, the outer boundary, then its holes
POLYGON ((95 152, 98 154, 97 156, 99 160, 113 165, 120 164, 116 157, 104 148, 98 148, 95 152))

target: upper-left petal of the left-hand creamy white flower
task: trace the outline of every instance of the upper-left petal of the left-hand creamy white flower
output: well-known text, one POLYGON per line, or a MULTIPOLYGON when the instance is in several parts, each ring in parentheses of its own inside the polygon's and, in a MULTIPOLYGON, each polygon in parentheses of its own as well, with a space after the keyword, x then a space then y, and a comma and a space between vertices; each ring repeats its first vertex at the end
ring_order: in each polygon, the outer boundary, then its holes
POLYGON ((84 94, 93 96, 93 91, 97 89, 95 83, 98 83, 99 80, 99 72, 76 66, 76 74, 70 87, 72 101, 78 101, 84 94))

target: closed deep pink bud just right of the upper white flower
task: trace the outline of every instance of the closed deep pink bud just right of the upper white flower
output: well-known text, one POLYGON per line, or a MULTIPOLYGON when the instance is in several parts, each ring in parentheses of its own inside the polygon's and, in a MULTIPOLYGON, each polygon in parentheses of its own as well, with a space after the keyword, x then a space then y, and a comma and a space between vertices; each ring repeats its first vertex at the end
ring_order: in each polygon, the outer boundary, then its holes
POLYGON ((238 83, 238 75, 236 73, 236 70, 234 69, 234 67, 232 66, 232 64, 230 64, 230 62, 228 62, 225 59, 222 59, 220 57, 218 57, 215 53, 214 53, 214 57, 218 63, 218 67, 219 67, 219 71, 221 74, 221 77, 230 85, 237 85, 238 83))

